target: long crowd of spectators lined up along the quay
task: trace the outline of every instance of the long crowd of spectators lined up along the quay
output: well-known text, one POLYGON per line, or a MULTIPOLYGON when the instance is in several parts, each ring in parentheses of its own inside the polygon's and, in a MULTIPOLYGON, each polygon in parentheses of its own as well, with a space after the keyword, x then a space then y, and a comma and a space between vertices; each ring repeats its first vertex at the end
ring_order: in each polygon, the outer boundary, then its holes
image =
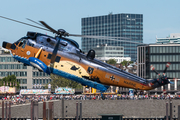
MULTIPOLYGON (((180 95, 104 95, 105 100, 166 100, 166 99, 180 99, 180 95)), ((32 100, 38 102, 49 101, 49 100, 102 100, 101 95, 7 95, 2 100, 11 101, 12 105, 30 103, 32 100)))

